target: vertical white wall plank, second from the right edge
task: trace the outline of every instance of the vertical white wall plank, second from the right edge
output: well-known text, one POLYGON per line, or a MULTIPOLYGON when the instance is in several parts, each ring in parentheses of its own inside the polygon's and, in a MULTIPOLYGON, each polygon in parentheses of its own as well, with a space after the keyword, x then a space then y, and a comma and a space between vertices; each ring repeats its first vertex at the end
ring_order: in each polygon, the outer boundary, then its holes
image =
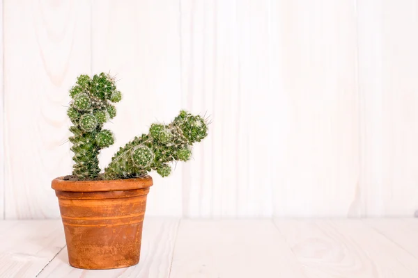
POLYGON ((272 112, 261 117, 270 123, 262 136, 270 156, 254 163, 270 172, 274 215, 357 216, 355 5, 351 0, 270 4, 272 87, 266 109, 272 112))

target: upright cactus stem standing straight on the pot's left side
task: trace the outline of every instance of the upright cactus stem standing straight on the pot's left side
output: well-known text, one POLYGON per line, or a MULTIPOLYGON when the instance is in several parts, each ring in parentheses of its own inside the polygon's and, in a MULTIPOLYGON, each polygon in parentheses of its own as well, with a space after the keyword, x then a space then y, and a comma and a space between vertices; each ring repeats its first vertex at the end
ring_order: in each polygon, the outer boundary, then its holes
POLYGON ((96 179, 100 173, 98 155, 100 149, 114 143, 111 131, 102 130, 102 126, 116 115, 116 109, 109 103, 121 100, 121 92, 116 90, 114 79, 109 74, 93 76, 80 75, 70 90, 72 101, 67 115, 73 126, 71 150, 72 174, 78 179, 96 179))

